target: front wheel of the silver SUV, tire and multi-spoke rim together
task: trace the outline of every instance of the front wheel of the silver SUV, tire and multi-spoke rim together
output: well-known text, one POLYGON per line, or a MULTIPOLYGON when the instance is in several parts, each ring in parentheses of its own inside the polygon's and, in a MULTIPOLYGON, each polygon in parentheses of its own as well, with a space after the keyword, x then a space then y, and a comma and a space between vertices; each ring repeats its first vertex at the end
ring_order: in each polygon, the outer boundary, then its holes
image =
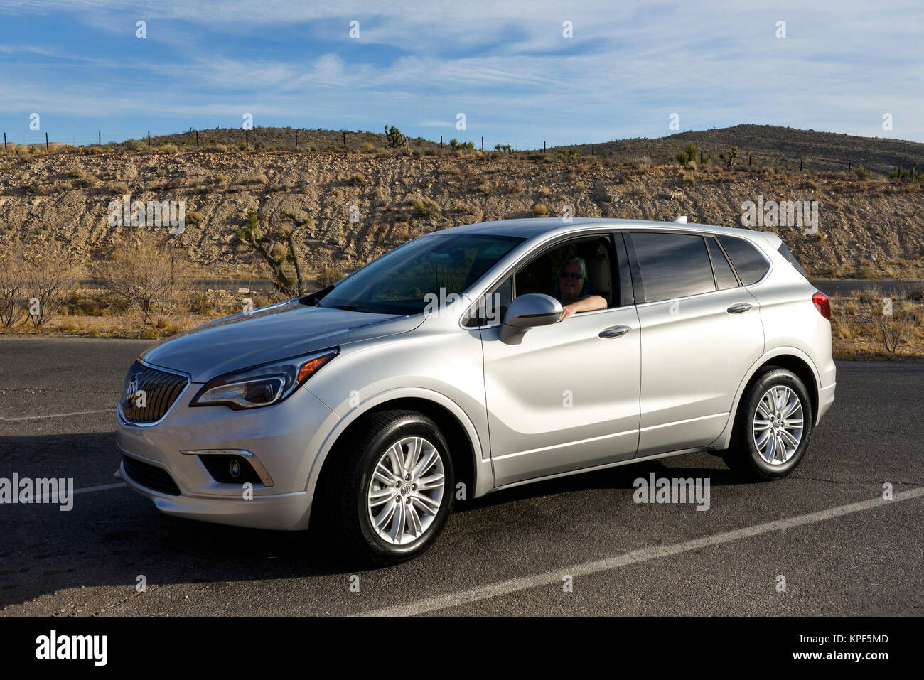
POLYGON ((371 565, 426 551, 452 510, 449 445, 432 419, 385 411, 338 446, 323 489, 324 523, 349 555, 371 565))

